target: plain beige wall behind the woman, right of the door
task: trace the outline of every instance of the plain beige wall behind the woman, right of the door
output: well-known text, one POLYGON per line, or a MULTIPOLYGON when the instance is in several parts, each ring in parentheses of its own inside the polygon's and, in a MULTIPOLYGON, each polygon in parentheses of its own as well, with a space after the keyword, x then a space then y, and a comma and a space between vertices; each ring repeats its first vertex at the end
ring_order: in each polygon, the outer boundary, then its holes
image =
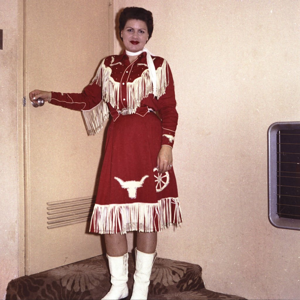
POLYGON ((159 235, 159 256, 201 265, 208 289, 298 299, 300 232, 268 222, 267 129, 300 117, 300 2, 114 4, 116 13, 152 11, 147 47, 168 60, 175 80, 184 223, 159 235))

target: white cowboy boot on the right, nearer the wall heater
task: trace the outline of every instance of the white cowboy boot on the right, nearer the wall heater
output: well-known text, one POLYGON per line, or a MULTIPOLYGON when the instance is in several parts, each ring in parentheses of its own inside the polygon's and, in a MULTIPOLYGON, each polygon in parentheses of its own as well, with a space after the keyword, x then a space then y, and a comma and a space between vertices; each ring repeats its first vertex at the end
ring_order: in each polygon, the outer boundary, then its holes
POLYGON ((136 267, 131 300, 147 300, 152 265, 157 253, 144 253, 135 248, 136 267))

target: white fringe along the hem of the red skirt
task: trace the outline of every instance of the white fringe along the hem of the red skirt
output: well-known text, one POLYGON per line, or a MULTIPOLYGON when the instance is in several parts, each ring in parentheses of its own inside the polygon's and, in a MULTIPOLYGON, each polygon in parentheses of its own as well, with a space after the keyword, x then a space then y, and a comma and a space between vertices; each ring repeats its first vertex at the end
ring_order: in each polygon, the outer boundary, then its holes
POLYGON ((100 234, 121 234, 128 231, 156 232, 170 225, 181 223, 181 208, 178 198, 164 198, 157 203, 95 204, 91 227, 100 234), (172 220, 172 207, 174 217, 172 220), (145 222, 144 222, 145 220, 145 222), (158 223, 158 228, 155 223, 158 223))

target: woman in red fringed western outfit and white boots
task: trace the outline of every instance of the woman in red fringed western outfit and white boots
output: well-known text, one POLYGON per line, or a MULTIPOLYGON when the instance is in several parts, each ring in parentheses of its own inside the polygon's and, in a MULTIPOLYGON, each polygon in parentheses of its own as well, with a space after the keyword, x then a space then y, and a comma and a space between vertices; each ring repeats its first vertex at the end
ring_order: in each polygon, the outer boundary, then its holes
POLYGON ((90 226, 90 232, 105 235, 112 286, 103 299, 128 296, 126 232, 137 231, 131 299, 147 299, 157 232, 182 221, 172 167, 178 120, 174 83, 167 61, 144 48, 152 31, 150 11, 125 8, 119 18, 125 51, 105 58, 83 93, 29 94, 35 103, 42 98, 81 110, 88 134, 99 132, 111 116, 90 226))

